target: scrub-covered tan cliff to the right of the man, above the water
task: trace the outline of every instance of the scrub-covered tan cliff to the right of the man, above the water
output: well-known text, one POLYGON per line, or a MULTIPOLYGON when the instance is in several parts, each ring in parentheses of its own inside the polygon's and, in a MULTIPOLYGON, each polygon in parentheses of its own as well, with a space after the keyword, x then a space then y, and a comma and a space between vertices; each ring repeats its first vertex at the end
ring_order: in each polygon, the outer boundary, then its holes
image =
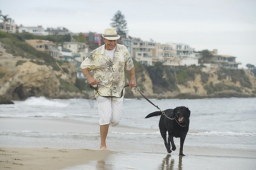
MULTIPOLYGON (((256 96, 256 77, 248 70, 170 67, 161 63, 156 63, 154 67, 136 66, 136 70, 137 85, 149 97, 196 99, 256 96)), ((132 92, 132 97, 141 97, 136 90, 132 92)))

